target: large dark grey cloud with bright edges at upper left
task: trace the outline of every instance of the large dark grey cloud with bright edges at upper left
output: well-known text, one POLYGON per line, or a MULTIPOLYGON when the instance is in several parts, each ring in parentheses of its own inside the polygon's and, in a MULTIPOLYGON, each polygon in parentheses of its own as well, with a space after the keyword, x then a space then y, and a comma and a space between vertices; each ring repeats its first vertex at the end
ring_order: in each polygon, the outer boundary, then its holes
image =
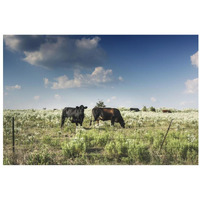
POLYGON ((100 37, 4 36, 5 45, 10 50, 21 51, 25 62, 44 68, 91 68, 101 65, 105 52, 99 46, 100 40, 100 37))

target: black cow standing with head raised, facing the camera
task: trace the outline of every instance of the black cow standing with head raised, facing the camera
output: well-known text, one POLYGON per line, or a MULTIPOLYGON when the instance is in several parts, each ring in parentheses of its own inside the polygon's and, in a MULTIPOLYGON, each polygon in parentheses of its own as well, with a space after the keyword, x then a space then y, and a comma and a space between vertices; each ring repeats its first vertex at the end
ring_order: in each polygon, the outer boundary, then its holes
POLYGON ((76 123, 76 126, 80 124, 82 126, 84 119, 84 109, 87 106, 76 106, 76 108, 65 107, 62 111, 61 128, 65 123, 65 118, 71 118, 72 123, 76 123))

